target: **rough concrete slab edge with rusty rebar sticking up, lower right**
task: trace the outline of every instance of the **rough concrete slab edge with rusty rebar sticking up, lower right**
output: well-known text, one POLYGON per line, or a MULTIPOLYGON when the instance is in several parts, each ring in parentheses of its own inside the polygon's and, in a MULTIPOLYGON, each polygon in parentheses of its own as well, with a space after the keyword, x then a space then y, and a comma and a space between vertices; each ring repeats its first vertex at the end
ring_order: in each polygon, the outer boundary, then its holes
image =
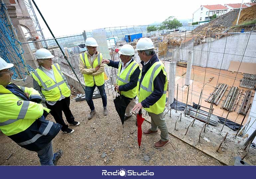
MULTIPOLYGON (((167 110, 164 113, 166 112, 167 110)), ((187 128, 192 122, 193 118, 185 117, 183 111, 177 111, 177 113, 175 113, 175 110, 172 110, 171 117, 169 116, 169 113, 166 114, 165 120, 170 135, 182 140, 200 151, 203 151, 223 164, 229 165, 234 156, 243 157, 247 152, 247 150, 244 150, 243 146, 245 140, 240 137, 235 138, 236 133, 233 130, 224 126, 223 131, 220 132, 222 124, 217 126, 206 126, 206 131, 205 133, 201 133, 199 142, 199 134, 205 123, 195 120, 193 127, 191 126, 189 128, 188 133, 185 136, 187 128), (174 130, 175 122, 177 121, 180 113, 182 113, 182 120, 178 120, 176 130, 174 130), (226 140, 222 143, 219 151, 217 152, 216 150, 227 132, 228 135, 226 140)), ((144 117, 146 121, 151 122, 148 115, 144 115, 144 117)), ((256 149, 250 148, 248 155, 244 158, 244 161, 250 165, 256 165, 256 149)))

